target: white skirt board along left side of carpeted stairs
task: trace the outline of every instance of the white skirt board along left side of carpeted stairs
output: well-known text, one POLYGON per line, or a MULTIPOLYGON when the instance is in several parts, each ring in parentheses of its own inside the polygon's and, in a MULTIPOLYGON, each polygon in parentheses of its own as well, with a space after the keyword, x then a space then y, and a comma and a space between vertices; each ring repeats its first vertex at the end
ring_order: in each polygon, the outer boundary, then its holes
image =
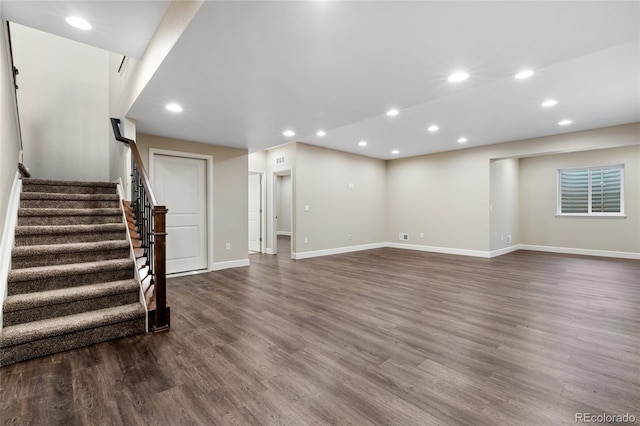
MULTIPOLYGON (((20 172, 16 172, 11 184, 7 215, 2 229, 2 239, 0 239, 0 307, 4 305, 4 300, 7 298, 7 277, 11 269, 11 250, 15 242, 21 192, 22 180, 20 179, 20 172)), ((2 309, 0 309, 0 330, 2 330, 2 309)))

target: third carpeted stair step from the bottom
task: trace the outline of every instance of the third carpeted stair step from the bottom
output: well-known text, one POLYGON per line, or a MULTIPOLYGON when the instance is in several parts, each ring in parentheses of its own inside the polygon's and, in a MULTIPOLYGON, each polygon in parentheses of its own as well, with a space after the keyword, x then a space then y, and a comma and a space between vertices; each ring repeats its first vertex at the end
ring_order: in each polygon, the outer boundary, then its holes
POLYGON ((15 269, 7 277, 8 295, 79 287, 133 278, 132 259, 15 269))

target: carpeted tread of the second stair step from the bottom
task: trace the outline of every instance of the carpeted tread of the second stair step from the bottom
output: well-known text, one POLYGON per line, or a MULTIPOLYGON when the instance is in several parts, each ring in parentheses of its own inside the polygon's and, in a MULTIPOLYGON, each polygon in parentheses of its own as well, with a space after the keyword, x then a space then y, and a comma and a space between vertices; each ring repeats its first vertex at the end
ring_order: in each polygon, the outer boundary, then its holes
POLYGON ((116 294, 138 292, 140 285, 134 279, 112 281, 84 285, 81 287, 63 288, 58 290, 39 291, 8 296, 4 302, 4 313, 34 309, 47 305, 55 305, 86 299, 95 299, 116 294))

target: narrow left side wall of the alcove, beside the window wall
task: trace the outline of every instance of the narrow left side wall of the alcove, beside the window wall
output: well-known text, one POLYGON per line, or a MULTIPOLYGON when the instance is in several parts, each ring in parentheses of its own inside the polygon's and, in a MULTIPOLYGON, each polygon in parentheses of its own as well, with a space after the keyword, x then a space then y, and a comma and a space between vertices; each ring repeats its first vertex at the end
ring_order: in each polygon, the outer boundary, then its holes
POLYGON ((519 244, 519 170, 520 161, 517 158, 490 162, 491 251, 519 244))

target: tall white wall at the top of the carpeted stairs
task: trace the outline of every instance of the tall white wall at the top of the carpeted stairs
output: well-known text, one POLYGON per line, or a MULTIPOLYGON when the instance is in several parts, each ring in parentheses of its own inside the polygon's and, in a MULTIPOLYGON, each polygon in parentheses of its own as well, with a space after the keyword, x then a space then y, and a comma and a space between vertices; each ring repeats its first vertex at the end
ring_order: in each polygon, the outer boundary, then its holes
POLYGON ((33 177, 108 180, 108 53, 16 24, 11 35, 33 177))

